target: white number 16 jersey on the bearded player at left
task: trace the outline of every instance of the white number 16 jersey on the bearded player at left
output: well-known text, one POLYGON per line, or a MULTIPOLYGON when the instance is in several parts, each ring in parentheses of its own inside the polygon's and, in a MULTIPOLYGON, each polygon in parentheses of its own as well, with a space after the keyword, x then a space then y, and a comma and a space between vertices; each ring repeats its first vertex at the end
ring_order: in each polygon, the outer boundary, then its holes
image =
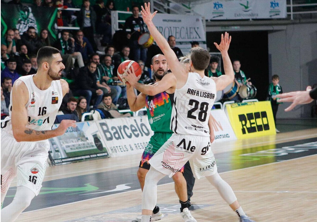
MULTIPOLYGON (((27 128, 37 131, 52 129, 58 109, 61 106, 63 92, 59 80, 52 81, 46 90, 40 90, 33 82, 33 75, 21 76, 18 80, 25 83, 29 91, 29 100, 25 105, 28 114, 27 128)), ((11 107, 12 93, 10 95, 9 116, 2 123, 3 130, 12 134, 11 107)))

